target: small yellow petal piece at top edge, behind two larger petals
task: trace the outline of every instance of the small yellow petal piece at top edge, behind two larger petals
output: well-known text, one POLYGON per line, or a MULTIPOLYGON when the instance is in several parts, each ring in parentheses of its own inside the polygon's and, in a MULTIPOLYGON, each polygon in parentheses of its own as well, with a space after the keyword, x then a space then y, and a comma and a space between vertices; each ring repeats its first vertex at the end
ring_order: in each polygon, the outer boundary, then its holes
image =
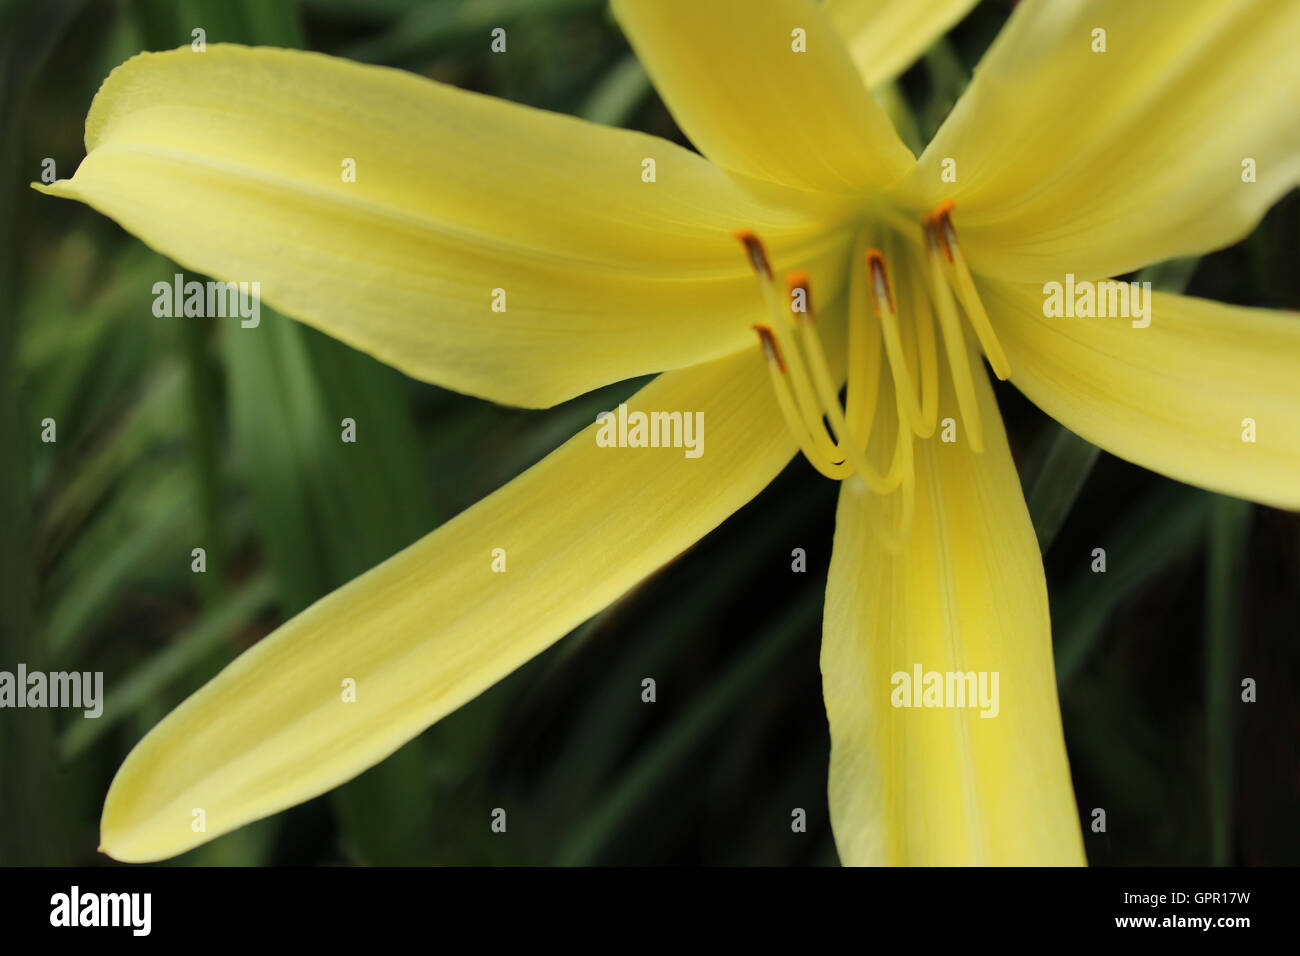
POLYGON ((876 87, 907 69, 974 5, 975 0, 827 0, 823 9, 862 81, 876 87))

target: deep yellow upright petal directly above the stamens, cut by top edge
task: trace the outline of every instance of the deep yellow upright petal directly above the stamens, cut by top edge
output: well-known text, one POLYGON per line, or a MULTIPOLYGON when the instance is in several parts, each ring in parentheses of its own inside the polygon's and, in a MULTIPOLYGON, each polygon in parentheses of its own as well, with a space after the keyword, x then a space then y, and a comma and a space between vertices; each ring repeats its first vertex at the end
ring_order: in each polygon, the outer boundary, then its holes
POLYGON ((614 0, 614 12, 677 125, 724 169, 857 194, 911 163, 812 0, 614 0))

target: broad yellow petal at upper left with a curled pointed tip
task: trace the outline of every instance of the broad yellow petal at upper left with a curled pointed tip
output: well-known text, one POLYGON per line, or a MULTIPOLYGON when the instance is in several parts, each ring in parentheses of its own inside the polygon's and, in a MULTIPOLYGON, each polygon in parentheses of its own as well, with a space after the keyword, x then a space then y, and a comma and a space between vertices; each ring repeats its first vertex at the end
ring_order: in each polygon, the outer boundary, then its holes
POLYGON ((734 229, 806 258, 802 215, 677 146, 317 53, 138 56, 95 98, 86 148, 47 191, 412 376, 516 405, 749 347, 734 229))

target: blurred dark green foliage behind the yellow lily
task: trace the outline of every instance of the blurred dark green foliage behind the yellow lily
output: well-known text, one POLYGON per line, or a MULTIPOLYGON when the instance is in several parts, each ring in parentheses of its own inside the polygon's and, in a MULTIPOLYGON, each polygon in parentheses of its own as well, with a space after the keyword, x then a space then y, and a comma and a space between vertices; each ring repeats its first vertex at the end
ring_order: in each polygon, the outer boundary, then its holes
MULTIPOLYGON (((937 129, 1006 12, 982 4, 889 91, 910 142, 937 129)), ((152 284, 174 267, 26 183, 46 156, 74 169, 112 66, 194 26, 685 142, 599 0, 0 0, 0 667, 101 670, 108 688, 99 721, 0 721, 0 862, 107 862, 103 795, 156 721, 637 385, 524 412, 410 381, 266 308, 255 339, 155 319, 152 284), (510 56, 489 55, 493 26, 511 29, 510 56), (339 451, 343 415, 364 415, 364 455, 339 451), (44 418, 57 444, 40 442, 44 418)), ((1292 195, 1247 242, 1144 277, 1295 307, 1297 238, 1292 195)), ((1013 389, 998 398, 1046 554, 1080 814, 1110 821, 1086 835, 1089 858, 1300 862, 1295 516, 1174 485, 1013 389), (1096 546, 1106 575, 1088 570, 1096 546), (1261 680, 1257 705, 1236 702, 1239 675, 1261 680)), ((835 492, 797 460, 390 760, 176 862, 835 862, 818 670, 835 492), (792 548, 807 574, 789 574, 792 548), (511 808, 508 840, 489 832, 494 806, 511 808), (790 832, 793 806, 807 834, 790 832)))

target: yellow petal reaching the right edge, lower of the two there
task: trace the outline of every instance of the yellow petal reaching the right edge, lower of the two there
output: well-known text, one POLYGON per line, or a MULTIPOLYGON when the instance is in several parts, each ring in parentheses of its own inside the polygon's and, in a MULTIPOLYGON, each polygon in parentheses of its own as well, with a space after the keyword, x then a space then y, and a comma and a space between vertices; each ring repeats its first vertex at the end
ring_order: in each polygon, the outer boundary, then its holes
POLYGON ((1011 381, 1070 431, 1179 481, 1300 509, 1300 315, 1154 293, 1150 325, 1134 328, 1147 320, 1045 317, 1037 286, 980 287, 1011 381))

